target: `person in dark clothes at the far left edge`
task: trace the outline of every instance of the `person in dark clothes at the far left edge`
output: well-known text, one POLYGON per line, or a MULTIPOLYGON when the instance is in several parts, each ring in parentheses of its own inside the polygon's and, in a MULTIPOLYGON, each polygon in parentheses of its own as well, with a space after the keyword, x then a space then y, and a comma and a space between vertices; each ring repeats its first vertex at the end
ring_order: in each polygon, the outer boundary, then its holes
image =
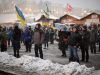
POLYGON ((4 52, 4 51, 6 51, 6 46, 5 46, 5 44, 6 44, 6 31, 3 27, 1 28, 0 35, 2 36, 1 52, 4 52))

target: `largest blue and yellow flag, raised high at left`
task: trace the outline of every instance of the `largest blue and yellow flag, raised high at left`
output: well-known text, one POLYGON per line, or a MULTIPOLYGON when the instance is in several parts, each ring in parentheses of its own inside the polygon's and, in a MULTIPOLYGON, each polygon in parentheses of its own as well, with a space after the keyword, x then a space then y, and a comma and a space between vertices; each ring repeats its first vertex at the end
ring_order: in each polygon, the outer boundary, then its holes
POLYGON ((16 9, 17 18, 20 19, 22 26, 25 25, 26 20, 24 18, 22 11, 16 5, 15 5, 15 9, 16 9))

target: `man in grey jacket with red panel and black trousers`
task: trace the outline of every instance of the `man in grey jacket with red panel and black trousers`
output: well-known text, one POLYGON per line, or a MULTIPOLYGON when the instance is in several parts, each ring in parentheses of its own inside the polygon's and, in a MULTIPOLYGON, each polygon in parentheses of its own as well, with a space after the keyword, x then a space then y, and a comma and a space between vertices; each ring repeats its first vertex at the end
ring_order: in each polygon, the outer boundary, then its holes
POLYGON ((35 45, 35 57, 39 57, 38 50, 40 53, 40 58, 43 59, 43 52, 42 52, 42 43, 44 41, 44 33, 43 30, 40 29, 41 25, 36 24, 34 30, 34 45, 35 45))

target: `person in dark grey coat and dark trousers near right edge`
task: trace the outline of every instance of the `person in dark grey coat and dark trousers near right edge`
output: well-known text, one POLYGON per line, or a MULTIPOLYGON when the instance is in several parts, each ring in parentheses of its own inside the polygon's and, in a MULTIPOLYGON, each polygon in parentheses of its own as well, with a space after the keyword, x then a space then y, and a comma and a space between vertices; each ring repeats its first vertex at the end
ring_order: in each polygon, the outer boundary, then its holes
POLYGON ((95 30, 94 26, 91 26, 90 31, 90 49, 91 53, 96 54, 96 42, 98 40, 97 31, 95 30))

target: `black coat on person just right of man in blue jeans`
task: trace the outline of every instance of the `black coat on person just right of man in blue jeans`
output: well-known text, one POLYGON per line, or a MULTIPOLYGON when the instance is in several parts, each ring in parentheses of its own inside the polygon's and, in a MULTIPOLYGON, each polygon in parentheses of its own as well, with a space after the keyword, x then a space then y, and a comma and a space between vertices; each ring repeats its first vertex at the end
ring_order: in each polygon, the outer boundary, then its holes
POLYGON ((83 31, 83 33, 81 34, 81 36, 83 37, 81 42, 80 42, 80 46, 84 47, 84 48, 88 48, 89 46, 89 39, 90 39, 90 32, 85 30, 83 31))

